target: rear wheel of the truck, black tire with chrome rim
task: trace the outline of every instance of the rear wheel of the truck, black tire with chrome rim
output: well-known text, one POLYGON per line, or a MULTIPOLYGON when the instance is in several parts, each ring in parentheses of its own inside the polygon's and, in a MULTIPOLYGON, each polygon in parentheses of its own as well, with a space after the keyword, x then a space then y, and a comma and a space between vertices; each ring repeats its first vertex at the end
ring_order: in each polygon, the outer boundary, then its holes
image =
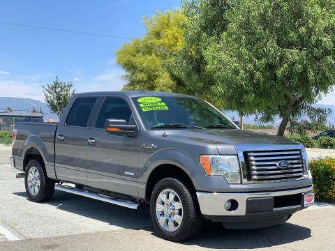
POLYGON ((48 201, 54 195, 54 181, 47 178, 45 167, 40 160, 30 160, 24 175, 24 185, 31 201, 48 201))

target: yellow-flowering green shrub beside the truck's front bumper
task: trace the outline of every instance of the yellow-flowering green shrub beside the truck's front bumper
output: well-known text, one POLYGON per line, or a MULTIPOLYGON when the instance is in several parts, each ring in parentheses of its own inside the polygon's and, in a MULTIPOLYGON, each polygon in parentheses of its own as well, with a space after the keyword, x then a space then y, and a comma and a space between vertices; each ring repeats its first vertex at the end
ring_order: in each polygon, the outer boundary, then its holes
POLYGON ((314 183, 315 198, 335 201, 335 158, 314 159, 309 163, 314 183))

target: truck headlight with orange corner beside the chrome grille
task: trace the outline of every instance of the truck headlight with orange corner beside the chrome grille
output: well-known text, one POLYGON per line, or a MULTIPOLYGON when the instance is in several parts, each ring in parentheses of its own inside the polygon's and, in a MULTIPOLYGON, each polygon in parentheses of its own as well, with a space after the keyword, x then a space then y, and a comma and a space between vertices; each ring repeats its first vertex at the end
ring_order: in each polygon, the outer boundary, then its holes
POLYGON ((236 155, 202 155, 200 165, 208 175, 224 176, 230 184, 240 184, 239 160, 236 155))

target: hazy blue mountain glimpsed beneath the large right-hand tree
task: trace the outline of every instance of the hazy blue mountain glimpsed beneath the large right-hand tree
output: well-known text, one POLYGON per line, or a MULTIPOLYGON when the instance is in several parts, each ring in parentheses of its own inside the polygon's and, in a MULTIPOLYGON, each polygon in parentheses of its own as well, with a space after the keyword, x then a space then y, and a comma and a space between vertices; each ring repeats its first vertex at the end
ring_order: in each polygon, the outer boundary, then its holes
MULTIPOLYGON (((327 126, 329 126, 329 122, 331 124, 335 125, 335 105, 315 105, 315 107, 322 107, 322 108, 332 109, 332 114, 327 119, 327 126)), ((234 118, 235 118, 234 121, 239 121, 239 114, 237 112, 224 111, 223 113, 226 116, 228 116, 228 118, 232 119, 232 116, 234 116, 234 118)), ((303 119, 308 119, 308 117, 304 116, 303 119)), ((244 116, 243 123, 255 124, 257 122, 255 122, 255 116, 244 116)), ((274 123, 266 123, 266 124, 274 125, 274 126, 278 127, 280 123, 281 123, 281 119, 279 119, 279 117, 277 116, 274 119, 274 123)), ((260 123, 258 123, 258 124, 260 124, 260 123)))

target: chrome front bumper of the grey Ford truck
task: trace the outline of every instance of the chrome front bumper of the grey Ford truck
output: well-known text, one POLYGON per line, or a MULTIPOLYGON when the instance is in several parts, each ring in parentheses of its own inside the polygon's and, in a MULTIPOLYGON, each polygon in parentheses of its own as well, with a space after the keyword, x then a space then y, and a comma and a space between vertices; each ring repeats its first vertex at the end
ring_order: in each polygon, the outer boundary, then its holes
MULTIPOLYGON (((297 195, 302 194, 304 192, 312 192, 312 191, 313 191, 313 185, 308 188, 300 188, 295 190, 284 190, 276 192, 251 192, 251 193, 197 192, 197 197, 202 215, 244 216, 246 215, 246 201, 249 198, 297 195), (229 199, 234 199, 238 202, 239 206, 235 211, 225 210, 224 207, 225 202, 228 201, 229 199)), ((280 211, 289 208, 303 208, 303 206, 297 205, 283 208, 274 208, 274 211, 280 211)))

